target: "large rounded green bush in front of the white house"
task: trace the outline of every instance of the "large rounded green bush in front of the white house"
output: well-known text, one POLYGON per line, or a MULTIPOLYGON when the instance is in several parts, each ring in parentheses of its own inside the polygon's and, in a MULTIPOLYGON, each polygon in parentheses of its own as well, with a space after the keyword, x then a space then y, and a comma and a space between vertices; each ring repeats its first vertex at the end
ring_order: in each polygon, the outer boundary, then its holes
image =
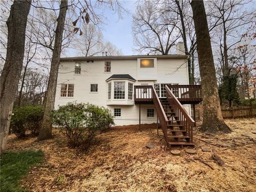
POLYGON ((72 103, 51 112, 53 124, 66 131, 73 147, 90 146, 94 137, 114 125, 109 109, 92 104, 72 103))

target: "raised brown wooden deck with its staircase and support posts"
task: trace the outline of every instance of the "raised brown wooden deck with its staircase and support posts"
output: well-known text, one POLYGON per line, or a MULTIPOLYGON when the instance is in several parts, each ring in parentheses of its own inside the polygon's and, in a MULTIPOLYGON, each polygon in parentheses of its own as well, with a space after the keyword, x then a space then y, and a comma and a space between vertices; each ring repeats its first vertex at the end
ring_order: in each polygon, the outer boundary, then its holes
POLYGON ((141 104, 154 104, 157 127, 159 119, 168 146, 194 146, 193 127, 196 122, 182 104, 192 104, 195 117, 195 105, 202 101, 201 85, 165 85, 161 92, 152 85, 134 86, 134 101, 140 106, 139 124, 141 104))

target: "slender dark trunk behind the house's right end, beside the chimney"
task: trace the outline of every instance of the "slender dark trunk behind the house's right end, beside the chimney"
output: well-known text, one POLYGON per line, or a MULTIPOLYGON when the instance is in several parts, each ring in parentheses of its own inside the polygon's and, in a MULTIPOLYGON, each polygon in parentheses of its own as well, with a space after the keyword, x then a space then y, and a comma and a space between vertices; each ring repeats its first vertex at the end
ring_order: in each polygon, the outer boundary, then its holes
MULTIPOLYGON (((187 37, 186 37, 186 28, 185 28, 185 23, 184 23, 184 18, 183 18, 183 11, 180 7, 180 2, 178 0, 175 0, 175 3, 177 4, 178 10, 179 10, 181 27, 182 27, 182 38, 183 38, 183 42, 184 42, 185 53, 187 55, 189 55, 187 37)), ((182 3, 182 1, 181 1, 181 3, 182 3)), ((188 78, 189 78, 189 84, 194 85, 194 81, 193 81, 194 78, 191 74, 191 59, 190 59, 190 57, 188 58, 188 78)))

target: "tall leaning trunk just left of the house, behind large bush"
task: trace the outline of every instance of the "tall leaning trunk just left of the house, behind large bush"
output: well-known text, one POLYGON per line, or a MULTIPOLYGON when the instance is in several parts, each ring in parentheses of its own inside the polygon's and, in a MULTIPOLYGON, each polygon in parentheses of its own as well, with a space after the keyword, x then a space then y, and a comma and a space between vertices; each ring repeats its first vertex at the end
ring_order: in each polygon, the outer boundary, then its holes
POLYGON ((49 139, 52 137, 52 123, 51 123, 51 118, 49 116, 49 113, 54 108, 57 77, 58 77, 59 63, 60 63, 62 34, 63 34, 65 18, 67 13, 67 6, 68 6, 68 2, 66 0, 61 0, 60 13, 57 19, 58 23, 55 30, 55 41, 54 41, 53 54, 52 54, 50 78, 47 86, 44 117, 42 121, 42 127, 38 135, 38 140, 49 139))

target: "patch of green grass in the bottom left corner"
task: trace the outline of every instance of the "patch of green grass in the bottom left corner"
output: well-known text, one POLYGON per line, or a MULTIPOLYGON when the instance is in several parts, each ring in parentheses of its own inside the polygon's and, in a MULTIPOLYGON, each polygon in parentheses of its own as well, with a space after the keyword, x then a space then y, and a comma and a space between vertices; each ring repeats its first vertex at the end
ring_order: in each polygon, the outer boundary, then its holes
POLYGON ((19 181, 28 172, 31 166, 41 163, 42 150, 7 151, 1 155, 1 191, 23 191, 19 181))

